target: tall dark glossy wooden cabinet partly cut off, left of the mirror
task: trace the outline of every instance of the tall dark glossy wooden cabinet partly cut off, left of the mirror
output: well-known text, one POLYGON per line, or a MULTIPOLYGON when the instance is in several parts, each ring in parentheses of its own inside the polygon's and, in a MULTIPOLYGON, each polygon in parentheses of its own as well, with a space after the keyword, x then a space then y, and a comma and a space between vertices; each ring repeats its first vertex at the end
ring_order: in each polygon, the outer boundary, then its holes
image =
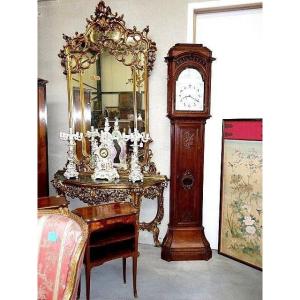
POLYGON ((38 79, 38 197, 49 195, 46 84, 38 79))

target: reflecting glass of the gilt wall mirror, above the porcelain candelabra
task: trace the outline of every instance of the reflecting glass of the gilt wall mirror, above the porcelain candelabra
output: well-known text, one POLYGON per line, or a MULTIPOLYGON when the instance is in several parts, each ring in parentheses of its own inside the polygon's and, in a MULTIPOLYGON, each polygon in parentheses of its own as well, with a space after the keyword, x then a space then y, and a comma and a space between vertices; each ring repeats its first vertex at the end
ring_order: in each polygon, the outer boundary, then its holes
MULTIPOLYGON (((85 116, 78 115, 80 110, 75 106, 74 119, 84 118, 86 127, 94 126, 100 131, 104 129, 105 118, 109 119, 111 127, 115 118, 118 118, 120 131, 130 133, 134 129, 136 101, 137 127, 140 131, 145 131, 146 107, 141 72, 124 65, 104 51, 88 69, 72 75, 73 97, 77 104, 80 103, 80 84, 84 93, 85 116)), ((76 124, 76 120, 74 121, 76 124)))

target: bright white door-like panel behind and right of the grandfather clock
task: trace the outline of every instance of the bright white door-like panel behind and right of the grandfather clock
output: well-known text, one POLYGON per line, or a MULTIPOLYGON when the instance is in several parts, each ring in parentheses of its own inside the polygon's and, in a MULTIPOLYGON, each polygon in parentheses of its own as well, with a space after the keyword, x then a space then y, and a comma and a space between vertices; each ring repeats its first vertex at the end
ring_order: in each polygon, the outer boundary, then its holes
POLYGON ((195 41, 212 49, 216 58, 212 66, 212 118, 207 121, 205 135, 203 224, 207 239, 217 248, 222 119, 263 117, 262 9, 200 14, 195 28, 195 41))

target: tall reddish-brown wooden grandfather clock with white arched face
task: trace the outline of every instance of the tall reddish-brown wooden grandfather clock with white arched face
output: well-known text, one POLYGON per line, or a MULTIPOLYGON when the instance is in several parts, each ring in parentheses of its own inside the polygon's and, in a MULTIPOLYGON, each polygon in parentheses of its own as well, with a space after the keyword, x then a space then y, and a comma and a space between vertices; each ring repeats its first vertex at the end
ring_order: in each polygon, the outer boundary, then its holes
POLYGON ((211 51, 200 44, 176 44, 168 63, 171 120, 170 221, 161 258, 211 258, 202 226, 204 129, 210 118, 211 51))

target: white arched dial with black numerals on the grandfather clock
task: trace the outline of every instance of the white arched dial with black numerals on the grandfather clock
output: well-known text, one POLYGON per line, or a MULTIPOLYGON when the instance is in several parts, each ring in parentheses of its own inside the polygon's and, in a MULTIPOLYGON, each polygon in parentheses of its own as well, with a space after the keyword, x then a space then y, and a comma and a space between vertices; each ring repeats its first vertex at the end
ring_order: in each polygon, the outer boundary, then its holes
POLYGON ((175 110, 202 111, 204 82, 199 71, 183 70, 176 81, 175 110))

